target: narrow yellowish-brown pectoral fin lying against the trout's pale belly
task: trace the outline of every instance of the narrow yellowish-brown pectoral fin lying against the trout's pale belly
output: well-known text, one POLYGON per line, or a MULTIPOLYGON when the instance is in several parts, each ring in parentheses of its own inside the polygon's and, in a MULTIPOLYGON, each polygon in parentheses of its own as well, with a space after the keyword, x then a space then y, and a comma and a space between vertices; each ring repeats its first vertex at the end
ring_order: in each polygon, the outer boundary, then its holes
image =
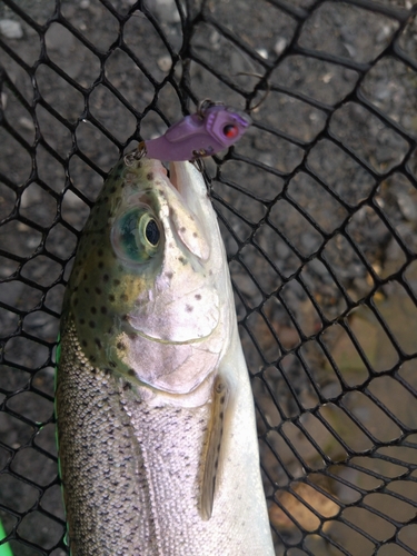
POLYGON ((217 376, 212 393, 211 417, 209 423, 207 450, 201 484, 200 513, 201 518, 208 522, 212 513, 216 494, 216 479, 220 467, 220 448, 224 434, 225 411, 229 399, 227 381, 217 376))

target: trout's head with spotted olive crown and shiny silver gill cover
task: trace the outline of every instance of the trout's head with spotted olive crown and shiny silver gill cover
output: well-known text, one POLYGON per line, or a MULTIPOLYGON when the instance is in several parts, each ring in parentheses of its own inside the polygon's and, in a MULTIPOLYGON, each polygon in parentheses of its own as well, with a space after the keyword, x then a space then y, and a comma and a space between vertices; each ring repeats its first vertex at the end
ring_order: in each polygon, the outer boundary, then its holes
POLYGON ((187 394, 216 370, 234 305, 195 166, 171 162, 169 176, 148 158, 116 166, 80 240, 63 322, 69 317, 86 359, 131 384, 187 394))

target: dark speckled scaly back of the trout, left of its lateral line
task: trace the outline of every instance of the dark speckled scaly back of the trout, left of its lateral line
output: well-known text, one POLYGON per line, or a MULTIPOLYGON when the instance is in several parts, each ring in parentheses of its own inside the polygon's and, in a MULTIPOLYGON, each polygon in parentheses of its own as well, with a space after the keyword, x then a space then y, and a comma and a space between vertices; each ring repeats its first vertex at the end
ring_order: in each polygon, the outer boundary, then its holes
POLYGON ((139 517, 139 508, 149 507, 149 494, 116 380, 89 364, 73 326, 68 326, 60 346, 57 413, 71 552, 141 554, 143 539, 155 538, 151 520, 139 517))

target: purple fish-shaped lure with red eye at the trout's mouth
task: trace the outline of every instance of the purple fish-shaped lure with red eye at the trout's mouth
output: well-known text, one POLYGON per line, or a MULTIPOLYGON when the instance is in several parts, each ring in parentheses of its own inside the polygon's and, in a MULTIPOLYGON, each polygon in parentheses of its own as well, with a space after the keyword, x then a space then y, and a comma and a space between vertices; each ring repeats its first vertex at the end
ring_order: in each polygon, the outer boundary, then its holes
POLYGON ((186 116, 167 132, 145 142, 146 156, 157 160, 196 160, 210 157, 238 141, 251 123, 240 110, 210 101, 186 116))

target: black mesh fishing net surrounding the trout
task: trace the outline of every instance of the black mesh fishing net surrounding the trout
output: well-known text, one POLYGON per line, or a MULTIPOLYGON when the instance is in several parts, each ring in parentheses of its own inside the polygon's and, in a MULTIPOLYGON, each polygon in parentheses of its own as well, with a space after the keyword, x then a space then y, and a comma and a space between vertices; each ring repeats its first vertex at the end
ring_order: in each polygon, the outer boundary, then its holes
POLYGON ((276 554, 417 554, 416 13, 3 0, 0 554, 68 554, 53 367, 77 241, 120 155, 207 97, 259 103, 206 171, 276 554))

